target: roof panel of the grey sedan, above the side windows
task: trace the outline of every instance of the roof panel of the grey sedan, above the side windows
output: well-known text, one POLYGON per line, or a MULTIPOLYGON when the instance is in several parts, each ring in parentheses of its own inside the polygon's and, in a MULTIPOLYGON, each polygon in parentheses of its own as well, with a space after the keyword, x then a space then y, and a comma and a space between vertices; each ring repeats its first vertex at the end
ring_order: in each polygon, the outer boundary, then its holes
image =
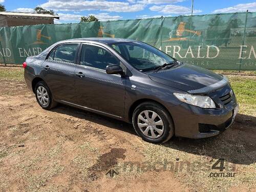
POLYGON ((90 38, 76 38, 76 39, 68 39, 65 42, 72 41, 93 41, 93 42, 101 42, 103 44, 114 44, 115 42, 132 42, 136 40, 132 39, 124 39, 124 38, 107 38, 107 37, 90 37, 90 38))

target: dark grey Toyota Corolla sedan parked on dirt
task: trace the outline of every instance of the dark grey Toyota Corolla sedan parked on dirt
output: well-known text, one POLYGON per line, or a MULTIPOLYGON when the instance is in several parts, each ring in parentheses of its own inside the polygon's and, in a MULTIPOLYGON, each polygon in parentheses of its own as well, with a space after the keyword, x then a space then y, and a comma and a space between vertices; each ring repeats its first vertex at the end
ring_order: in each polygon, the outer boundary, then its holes
POLYGON ((59 41, 23 63, 41 108, 63 103, 133 123, 145 141, 206 138, 233 122, 238 103, 228 79, 187 65, 141 41, 59 41))

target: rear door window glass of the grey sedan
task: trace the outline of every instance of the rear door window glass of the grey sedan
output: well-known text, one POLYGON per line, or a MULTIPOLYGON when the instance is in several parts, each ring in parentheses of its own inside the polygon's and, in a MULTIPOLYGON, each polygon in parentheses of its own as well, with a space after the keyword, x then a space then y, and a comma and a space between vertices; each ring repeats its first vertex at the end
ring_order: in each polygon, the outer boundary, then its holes
MULTIPOLYGON (((77 45, 78 44, 65 44, 58 46, 55 49, 53 60, 74 63, 77 45)), ((49 57, 50 56, 51 54, 49 55, 49 57)))

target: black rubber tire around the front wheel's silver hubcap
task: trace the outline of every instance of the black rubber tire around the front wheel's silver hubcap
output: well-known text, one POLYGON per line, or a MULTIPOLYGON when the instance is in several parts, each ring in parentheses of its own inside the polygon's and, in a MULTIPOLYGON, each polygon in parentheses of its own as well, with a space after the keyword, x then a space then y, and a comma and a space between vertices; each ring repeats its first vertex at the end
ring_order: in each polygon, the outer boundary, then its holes
MULTIPOLYGON (((170 117, 169 113, 163 108, 163 106, 161 106, 160 104, 155 103, 155 102, 143 102, 137 106, 137 108, 133 112, 133 126, 134 126, 136 133, 144 141, 151 142, 151 143, 165 143, 170 138, 172 138, 174 135, 174 124, 173 124, 172 117, 170 117), (162 135, 159 134, 160 136, 158 138, 154 139, 154 138, 145 136, 138 126, 138 116, 140 115, 140 113, 143 113, 143 111, 145 111, 145 110, 151 111, 148 114, 150 114, 152 112, 156 112, 157 115, 160 116, 160 118, 163 122, 163 126, 164 126, 163 132, 162 132, 162 135)), ((145 127, 143 127, 142 129, 144 129, 145 127)), ((153 132, 155 132, 155 131, 153 131, 153 132)), ((158 134, 157 132, 155 132, 155 133, 158 134)), ((149 134, 151 134, 151 132, 149 132, 149 134)))

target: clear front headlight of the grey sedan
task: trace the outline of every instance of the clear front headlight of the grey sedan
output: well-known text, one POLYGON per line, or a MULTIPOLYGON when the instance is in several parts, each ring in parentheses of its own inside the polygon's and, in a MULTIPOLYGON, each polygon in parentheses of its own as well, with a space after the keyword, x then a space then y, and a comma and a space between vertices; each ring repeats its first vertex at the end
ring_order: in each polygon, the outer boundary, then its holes
POLYGON ((202 95, 191 95, 186 93, 174 93, 180 101, 200 108, 216 108, 214 101, 208 96, 202 95))

